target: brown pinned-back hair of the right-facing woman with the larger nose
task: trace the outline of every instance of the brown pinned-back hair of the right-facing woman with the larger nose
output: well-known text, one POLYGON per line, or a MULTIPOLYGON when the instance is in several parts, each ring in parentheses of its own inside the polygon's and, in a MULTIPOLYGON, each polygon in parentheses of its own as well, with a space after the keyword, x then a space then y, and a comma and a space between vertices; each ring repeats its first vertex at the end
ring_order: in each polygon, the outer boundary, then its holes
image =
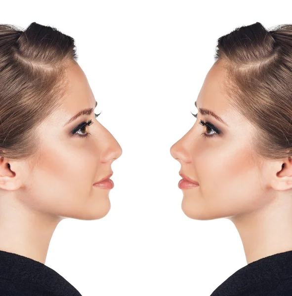
POLYGON ((38 125, 62 104, 75 40, 53 27, 0 24, 0 158, 23 160, 40 148, 38 125))

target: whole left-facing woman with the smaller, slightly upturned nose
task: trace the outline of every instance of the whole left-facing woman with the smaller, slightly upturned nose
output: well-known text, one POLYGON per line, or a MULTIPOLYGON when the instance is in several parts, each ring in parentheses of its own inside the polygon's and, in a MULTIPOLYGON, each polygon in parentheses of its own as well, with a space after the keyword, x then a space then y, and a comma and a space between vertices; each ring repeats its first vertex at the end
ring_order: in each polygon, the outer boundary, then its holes
POLYGON ((247 265, 211 296, 292 295, 292 25, 217 40, 194 126, 171 148, 182 211, 227 218, 247 265), (197 185, 196 185, 197 184, 197 185))

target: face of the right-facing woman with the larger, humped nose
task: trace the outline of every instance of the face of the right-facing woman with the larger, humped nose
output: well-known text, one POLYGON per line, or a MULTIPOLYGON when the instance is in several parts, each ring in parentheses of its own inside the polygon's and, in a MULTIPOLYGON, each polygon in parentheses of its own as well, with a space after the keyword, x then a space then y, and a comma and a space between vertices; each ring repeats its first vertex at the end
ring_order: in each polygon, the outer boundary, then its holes
POLYGON ((122 148, 96 120, 97 102, 81 67, 68 64, 65 72, 69 87, 63 104, 38 128, 37 165, 26 170, 23 163, 10 161, 8 169, 4 161, 5 186, 14 193, 25 187, 15 200, 19 207, 61 219, 100 219, 110 210, 111 188, 93 184, 113 173, 111 164, 122 148), (71 119, 85 109, 91 112, 71 119))

